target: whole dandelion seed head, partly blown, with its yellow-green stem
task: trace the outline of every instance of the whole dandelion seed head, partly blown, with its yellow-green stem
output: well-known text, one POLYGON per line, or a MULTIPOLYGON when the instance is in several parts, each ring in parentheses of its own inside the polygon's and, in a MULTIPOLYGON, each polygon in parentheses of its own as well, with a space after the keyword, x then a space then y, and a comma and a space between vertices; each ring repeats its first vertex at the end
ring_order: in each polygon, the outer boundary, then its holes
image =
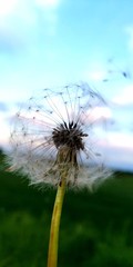
POLYGON ((58 263, 58 238, 65 188, 92 189, 111 174, 98 149, 104 99, 88 85, 44 89, 16 115, 10 162, 31 184, 57 187, 48 266, 58 263), (99 118, 99 119, 98 119, 99 118))

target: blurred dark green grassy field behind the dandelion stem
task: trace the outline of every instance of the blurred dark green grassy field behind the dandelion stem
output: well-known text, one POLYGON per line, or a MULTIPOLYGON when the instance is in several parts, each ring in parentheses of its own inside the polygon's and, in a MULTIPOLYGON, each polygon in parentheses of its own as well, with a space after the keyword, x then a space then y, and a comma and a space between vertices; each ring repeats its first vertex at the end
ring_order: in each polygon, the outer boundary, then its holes
MULTIPOLYGON (((44 267, 55 191, 0 170, 0 267, 44 267)), ((133 266, 133 175, 119 174, 94 194, 68 191, 59 267, 133 266)))

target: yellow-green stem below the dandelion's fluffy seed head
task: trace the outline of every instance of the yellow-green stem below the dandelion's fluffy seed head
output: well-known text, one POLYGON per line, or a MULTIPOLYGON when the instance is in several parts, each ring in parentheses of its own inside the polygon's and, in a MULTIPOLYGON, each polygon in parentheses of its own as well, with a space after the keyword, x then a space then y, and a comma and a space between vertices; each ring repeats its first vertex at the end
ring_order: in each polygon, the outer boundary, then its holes
POLYGON ((53 207, 51 229, 50 229, 48 267, 57 267, 58 265, 59 228, 60 228, 60 219, 61 219, 65 186, 66 186, 65 177, 63 177, 61 184, 58 187, 55 202, 53 207))

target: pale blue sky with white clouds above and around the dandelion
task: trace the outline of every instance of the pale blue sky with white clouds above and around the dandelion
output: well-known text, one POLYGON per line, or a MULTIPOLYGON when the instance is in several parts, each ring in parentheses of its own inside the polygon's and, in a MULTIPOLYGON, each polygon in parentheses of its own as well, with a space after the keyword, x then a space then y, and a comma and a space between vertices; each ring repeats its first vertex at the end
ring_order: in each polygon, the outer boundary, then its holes
POLYGON ((109 165, 133 171, 132 76, 132 0, 0 0, 1 146, 33 91, 82 81, 109 102, 109 165))

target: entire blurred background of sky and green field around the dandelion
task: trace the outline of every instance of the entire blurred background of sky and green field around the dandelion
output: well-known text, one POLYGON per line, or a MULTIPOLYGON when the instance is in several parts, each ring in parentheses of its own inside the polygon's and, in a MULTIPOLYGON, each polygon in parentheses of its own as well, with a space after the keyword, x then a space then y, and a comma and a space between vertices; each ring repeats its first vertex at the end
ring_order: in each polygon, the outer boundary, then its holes
MULTIPOLYGON (((132 0, 0 0, 3 151, 33 91, 83 81, 108 102, 104 149, 117 172, 94 194, 66 192, 59 266, 133 266, 132 13, 132 0)), ((0 157, 0 266, 45 266, 55 191, 29 187, 0 157)))

